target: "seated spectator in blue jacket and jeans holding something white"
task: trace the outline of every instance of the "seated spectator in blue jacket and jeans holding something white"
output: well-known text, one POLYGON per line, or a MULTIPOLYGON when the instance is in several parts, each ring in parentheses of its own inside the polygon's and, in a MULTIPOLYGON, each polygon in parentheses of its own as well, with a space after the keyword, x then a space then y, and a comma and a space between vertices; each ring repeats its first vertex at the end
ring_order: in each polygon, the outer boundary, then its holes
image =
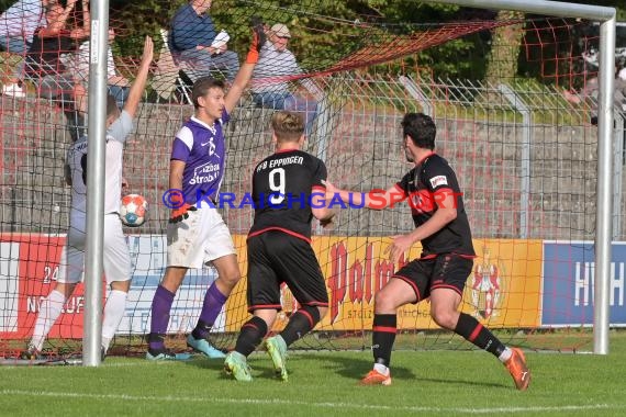
POLYGON ((197 75, 210 76, 214 70, 225 71, 226 79, 232 81, 239 70, 239 58, 235 52, 227 50, 227 43, 214 44, 217 31, 206 13, 212 2, 191 0, 178 9, 171 20, 169 46, 172 57, 193 67, 192 81, 197 75))

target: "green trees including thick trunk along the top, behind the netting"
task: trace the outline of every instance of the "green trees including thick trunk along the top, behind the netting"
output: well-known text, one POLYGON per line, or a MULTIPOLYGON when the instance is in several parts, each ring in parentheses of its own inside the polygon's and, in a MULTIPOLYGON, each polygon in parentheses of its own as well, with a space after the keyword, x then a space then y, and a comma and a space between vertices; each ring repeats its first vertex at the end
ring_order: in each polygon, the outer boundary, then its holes
MULTIPOLYGON (((158 35, 159 30, 168 26, 175 10, 186 1, 110 0, 111 25, 119 29, 113 45, 115 55, 141 56, 143 38, 146 34, 152 35, 155 40, 155 50, 159 50, 161 42, 158 35)), ((0 0, 0 10, 5 10, 13 2, 14 0, 0 0)), ((593 2, 578 0, 573 2, 616 7, 618 9, 617 19, 626 20, 626 0, 594 0, 593 2)), ((211 15, 217 27, 228 31, 232 38, 230 46, 237 52, 245 50, 249 38, 247 26, 253 14, 260 15, 268 23, 287 24, 294 36, 290 48, 300 58, 302 66, 309 70, 320 68, 320 59, 324 59, 325 63, 337 61, 349 53, 366 46, 368 42, 377 41, 375 37, 377 33, 380 36, 383 33, 409 36, 446 22, 493 20, 496 16, 496 13, 490 10, 460 8, 454 4, 420 3, 414 0, 215 0, 211 8, 211 15)), ((512 14, 512 12, 501 11, 498 14, 498 19, 512 19, 512 16, 523 16, 523 13, 512 14)), ((518 25, 502 27, 492 34, 484 31, 431 47, 400 61, 375 66, 368 70, 385 71, 390 75, 421 71, 434 78, 473 80, 495 80, 499 77, 521 75, 548 82, 550 78, 541 77, 539 71, 556 70, 557 65, 567 63, 555 60, 539 68, 533 65, 532 59, 526 59, 526 63, 517 68, 522 43, 529 44, 537 41, 541 43, 541 40, 533 38, 533 36, 539 36, 535 31, 525 33, 527 40, 523 41, 523 35, 524 27, 518 25), (484 59, 485 56, 489 56, 488 61, 484 59), (550 68, 550 65, 555 68, 550 68)), ((572 33, 568 25, 563 24, 554 31, 554 36, 548 44, 557 45, 561 37, 569 40, 572 36, 580 37, 580 34, 572 33)), ((545 53, 559 54, 558 50, 545 53)), ((557 72, 568 74, 567 70, 557 72)), ((569 72, 575 74, 577 70, 569 72)))

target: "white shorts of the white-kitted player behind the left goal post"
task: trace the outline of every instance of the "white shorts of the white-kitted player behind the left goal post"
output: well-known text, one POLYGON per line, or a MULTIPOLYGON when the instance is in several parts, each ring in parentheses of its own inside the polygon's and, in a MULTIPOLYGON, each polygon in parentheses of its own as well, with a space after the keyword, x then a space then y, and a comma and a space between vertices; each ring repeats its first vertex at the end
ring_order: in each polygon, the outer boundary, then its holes
MULTIPOLYGON (((59 262, 58 282, 76 284, 85 268, 85 221, 72 218, 59 262)), ((102 267, 107 283, 131 279, 131 253, 116 213, 104 215, 102 267)))

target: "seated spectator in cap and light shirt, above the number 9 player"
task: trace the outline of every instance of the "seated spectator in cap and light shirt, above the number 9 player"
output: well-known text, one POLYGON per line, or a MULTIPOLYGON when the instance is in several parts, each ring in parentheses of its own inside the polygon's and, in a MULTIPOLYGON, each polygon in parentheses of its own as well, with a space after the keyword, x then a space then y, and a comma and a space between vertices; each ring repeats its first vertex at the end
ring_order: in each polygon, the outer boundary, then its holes
POLYGON ((290 79, 302 75, 302 69, 293 53, 287 48, 290 38, 291 33, 282 23, 275 24, 268 31, 268 41, 253 74, 253 100, 260 108, 303 113, 305 134, 309 135, 317 114, 317 100, 323 98, 324 92, 309 78, 300 79, 299 83, 312 98, 291 92, 290 79))

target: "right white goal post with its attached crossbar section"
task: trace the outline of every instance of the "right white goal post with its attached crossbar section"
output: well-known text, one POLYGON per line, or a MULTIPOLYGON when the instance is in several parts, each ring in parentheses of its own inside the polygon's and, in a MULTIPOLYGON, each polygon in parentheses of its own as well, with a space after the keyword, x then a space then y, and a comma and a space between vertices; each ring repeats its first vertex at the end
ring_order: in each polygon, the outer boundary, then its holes
POLYGON ((593 352, 608 353, 611 230, 613 190, 613 77, 615 67, 614 8, 543 0, 426 0, 479 9, 512 10, 559 18, 588 19, 600 25, 597 112, 597 196, 595 216, 595 291, 593 352))

